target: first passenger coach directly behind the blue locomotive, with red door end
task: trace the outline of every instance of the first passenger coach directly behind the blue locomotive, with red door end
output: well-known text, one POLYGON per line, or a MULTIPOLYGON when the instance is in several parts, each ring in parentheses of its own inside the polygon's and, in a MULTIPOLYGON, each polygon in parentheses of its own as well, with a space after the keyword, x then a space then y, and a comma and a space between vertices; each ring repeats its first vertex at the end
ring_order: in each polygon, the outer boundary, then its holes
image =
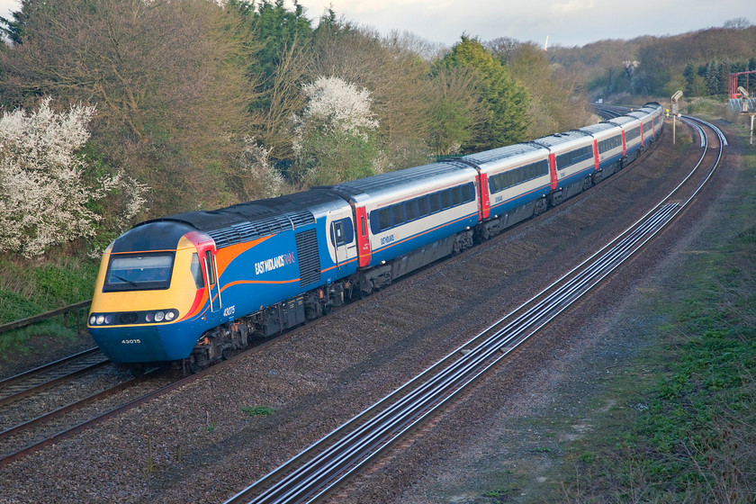
POLYGON ((472 247, 481 211, 477 184, 472 166, 445 161, 334 185, 359 220, 359 266, 373 268, 361 293, 472 247))

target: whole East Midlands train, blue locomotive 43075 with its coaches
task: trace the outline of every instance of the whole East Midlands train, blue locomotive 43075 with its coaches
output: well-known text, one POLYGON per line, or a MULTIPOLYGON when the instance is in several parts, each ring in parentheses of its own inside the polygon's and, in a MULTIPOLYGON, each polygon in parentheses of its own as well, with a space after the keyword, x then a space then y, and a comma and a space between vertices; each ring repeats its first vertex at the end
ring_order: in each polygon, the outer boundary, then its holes
POLYGON ((103 254, 88 329, 113 362, 193 372, 538 215, 626 166, 662 106, 426 166, 148 220, 103 254))

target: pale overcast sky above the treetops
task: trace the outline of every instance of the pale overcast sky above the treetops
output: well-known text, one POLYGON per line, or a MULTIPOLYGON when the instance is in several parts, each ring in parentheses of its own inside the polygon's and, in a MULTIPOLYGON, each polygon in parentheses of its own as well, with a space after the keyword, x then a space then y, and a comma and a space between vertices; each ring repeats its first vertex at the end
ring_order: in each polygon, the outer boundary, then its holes
MULTIPOLYGON (((293 5, 293 0, 286 0, 293 5)), ((463 32, 481 40, 510 37, 582 46, 603 39, 674 35, 744 17, 756 23, 754 0, 300 0, 311 19, 332 6, 339 15, 383 34, 410 31, 452 45, 463 32), (616 20, 611 26, 608 20, 616 20)), ((0 0, 0 15, 18 9, 0 0)), ((756 49, 755 49, 756 50, 756 49)))

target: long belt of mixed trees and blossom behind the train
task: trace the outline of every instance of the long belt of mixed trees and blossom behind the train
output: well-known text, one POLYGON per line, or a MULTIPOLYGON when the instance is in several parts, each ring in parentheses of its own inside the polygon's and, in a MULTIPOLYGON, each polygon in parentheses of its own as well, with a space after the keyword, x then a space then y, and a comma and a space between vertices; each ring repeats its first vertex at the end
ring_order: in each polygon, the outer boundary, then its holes
POLYGON ((26 142, 0 139, 0 248, 27 257, 590 121, 535 46, 443 48, 296 2, 23 0, 0 26, 0 134, 26 142))

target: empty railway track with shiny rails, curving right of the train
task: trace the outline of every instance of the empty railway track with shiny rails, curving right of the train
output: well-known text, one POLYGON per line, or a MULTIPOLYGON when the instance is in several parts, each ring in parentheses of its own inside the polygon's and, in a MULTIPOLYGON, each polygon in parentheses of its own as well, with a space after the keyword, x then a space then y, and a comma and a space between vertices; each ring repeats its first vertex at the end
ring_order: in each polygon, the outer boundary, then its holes
POLYGON ((605 247, 546 287, 483 333, 363 411, 302 454, 227 500, 309 502, 319 500, 354 476, 393 443, 463 394, 501 359, 568 310, 586 293, 634 257, 689 208, 716 170, 726 146, 716 126, 685 117, 697 131, 702 154, 689 175, 641 219, 605 247), (709 135, 712 130, 715 135, 709 135))

